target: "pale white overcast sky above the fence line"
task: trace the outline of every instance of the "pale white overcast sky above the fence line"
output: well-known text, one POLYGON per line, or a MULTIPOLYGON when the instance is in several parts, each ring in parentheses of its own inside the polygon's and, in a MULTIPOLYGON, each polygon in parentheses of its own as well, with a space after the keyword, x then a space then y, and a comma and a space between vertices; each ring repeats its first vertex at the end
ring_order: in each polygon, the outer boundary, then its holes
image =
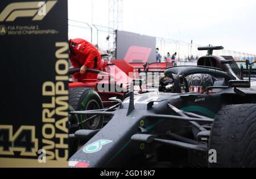
MULTIPOLYGON (((108 0, 69 0, 69 19, 108 27, 108 0), (93 2, 93 3, 92 3, 93 2), (93 8, 92 8, 93 5, 93 8), (92 13, 93 9, 93 13, 92 13), (93 14, 93 18, 92 18, 93 14)), ((123 30, 256 54, 255 0, 123 0, 123 30)), ((70 36, 83 32, 69 29, 70 36)))

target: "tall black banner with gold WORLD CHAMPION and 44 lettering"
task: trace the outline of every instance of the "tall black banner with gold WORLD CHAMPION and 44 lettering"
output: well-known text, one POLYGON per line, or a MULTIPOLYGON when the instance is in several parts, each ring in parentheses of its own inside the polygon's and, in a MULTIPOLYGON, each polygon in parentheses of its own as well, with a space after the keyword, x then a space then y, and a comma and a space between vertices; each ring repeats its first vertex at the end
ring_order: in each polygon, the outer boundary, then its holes
POLYGON ((67 0, 0 3, 0 167, 67 167, 67 0))

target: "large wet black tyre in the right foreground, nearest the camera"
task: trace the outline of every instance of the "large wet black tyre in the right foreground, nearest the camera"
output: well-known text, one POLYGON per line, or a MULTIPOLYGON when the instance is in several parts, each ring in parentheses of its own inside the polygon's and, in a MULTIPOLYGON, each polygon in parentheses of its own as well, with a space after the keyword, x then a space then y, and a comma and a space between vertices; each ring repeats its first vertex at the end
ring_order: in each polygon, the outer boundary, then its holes
POLYGON ((213 122, 208 149, 217 152, 217 163, 209 167, 256 167, 256 104, 222 108, 213 122))

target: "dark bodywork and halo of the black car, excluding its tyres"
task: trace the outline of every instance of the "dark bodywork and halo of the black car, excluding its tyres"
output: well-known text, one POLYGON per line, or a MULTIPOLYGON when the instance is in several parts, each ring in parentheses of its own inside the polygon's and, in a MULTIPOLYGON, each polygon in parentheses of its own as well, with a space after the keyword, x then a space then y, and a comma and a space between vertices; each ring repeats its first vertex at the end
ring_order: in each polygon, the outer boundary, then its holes
MULTIPOLYGON (((203 58, 207 59, 206 57, 203 58)), ((216 64, 224 67, 171 67, 166 70, 165 75, 184 77, 207 73, 224 78, 222 86, 239 79, 230 62, 222 63, 221 61, 225 61, 223 57, 214 59, 217 60, 216 64)), ((207 166, 207 141, 202 142, 197 137, 201 135, 201 131, 209 131, 216 113, 223 106, 256 103, 255 86, 254 82, 250 88, 227 86, 210 94, 158 91, 135 96, 131 94, 130 99, 124 100, 114 112, 105 113, 113 116, 112 120, 90 138, 69 161, 85 161, 92 168, 152 167, 149 165, 152 161, 179 163, 181 160, 191 164, 196 161, 207 166), (203 130, 195 127, 197 124, 203 130), (179 135, 183 140, 170 140, 168 133, 179 135), (164 148, 165 146, 168 147, 164 148)))

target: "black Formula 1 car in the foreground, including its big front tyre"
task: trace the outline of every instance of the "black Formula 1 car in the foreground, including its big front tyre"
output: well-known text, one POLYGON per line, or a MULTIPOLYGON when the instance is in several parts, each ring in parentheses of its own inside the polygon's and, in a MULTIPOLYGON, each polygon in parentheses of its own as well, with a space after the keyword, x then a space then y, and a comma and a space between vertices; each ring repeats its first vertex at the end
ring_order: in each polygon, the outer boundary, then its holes
POLYGON ((130 92, 111 108, 71 112, 112 120, 69 135, 88 141, 69 167, 256 167, 255 83, 241 80, 232 57, 212 56, 218 49, 223 47, 199 48, 208 55, 197 66, 168 68, 158 92, 130 92), (186 77, 192 74, 213 76, 213 86, 189 92, 186 77))

